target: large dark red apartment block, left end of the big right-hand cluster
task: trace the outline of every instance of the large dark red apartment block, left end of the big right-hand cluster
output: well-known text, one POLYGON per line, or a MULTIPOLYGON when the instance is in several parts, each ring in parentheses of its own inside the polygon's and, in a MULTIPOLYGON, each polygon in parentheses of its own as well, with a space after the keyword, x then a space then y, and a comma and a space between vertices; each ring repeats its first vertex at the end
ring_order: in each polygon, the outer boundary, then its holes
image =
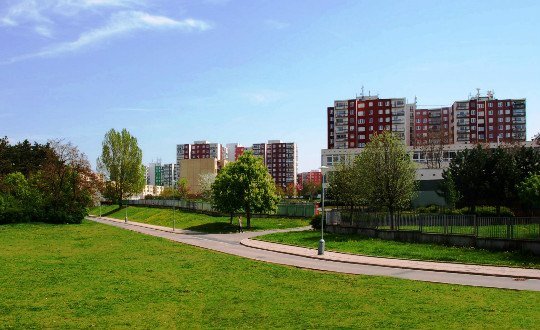
POLYGON ((363 148, 375 133, 394 132, 410 144, 410 112, 405 98, 361 96, 336 100, 327 108, 328 149, 363 148))

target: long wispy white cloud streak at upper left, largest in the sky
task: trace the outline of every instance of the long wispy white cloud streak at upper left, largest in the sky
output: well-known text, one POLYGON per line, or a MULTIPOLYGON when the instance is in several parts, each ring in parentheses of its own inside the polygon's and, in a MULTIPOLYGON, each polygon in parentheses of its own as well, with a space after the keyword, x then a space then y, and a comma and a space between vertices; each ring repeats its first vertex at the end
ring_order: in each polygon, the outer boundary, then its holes
POLYGON ((141 11, 123 11, 114 14, 105 26, 82 33, 77 40, 59 43, 37 53, 18 56, 12 58, 7 63, 19 62, 35 57, 52 57, 75 52, 136 30, 176 29, 184 32, 192 32, 206 31, 210 28, 210 23, 192 18, 175 20, 166 16, 156 16, 141 11))

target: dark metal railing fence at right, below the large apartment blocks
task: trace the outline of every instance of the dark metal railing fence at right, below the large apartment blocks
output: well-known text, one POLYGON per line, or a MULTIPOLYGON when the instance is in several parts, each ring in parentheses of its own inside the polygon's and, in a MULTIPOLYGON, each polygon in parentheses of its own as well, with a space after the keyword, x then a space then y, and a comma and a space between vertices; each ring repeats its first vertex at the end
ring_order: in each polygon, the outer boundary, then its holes
POLYGON ((328 225, 409 230, 479 238, 540 240, 540 217, 477 217, 475 215, 327 212, 328 225))

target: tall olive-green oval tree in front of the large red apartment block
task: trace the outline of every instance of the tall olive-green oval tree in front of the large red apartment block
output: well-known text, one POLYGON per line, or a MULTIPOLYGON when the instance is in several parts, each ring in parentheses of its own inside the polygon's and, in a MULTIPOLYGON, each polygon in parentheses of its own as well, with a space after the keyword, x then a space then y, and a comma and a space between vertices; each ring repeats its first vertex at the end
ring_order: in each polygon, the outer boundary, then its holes
POLYGON ((403 142, 391 132, 375 134, 355 161, 362 188, 370 205, 394 213, 410 205, 416 193, 416 166, 403 142))

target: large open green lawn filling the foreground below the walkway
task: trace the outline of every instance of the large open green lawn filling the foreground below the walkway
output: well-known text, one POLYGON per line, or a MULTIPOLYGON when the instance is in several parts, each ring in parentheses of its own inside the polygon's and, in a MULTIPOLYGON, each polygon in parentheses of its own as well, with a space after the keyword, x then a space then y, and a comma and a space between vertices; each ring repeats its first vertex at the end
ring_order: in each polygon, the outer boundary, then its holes
POLYGON ((89 221, 3 225, 0 238, 2 328, 540 324, 538 292, 301 270, 89 221))

